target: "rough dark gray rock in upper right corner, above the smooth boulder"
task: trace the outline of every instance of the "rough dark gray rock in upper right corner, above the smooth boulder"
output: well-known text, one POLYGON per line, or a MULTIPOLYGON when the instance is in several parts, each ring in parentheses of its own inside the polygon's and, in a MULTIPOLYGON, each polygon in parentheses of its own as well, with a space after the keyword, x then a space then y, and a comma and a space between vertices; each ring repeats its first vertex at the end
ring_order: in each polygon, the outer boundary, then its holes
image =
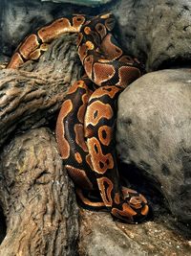
POLYGON ((191 57, 191 2, 121 0, 114 6, 121 42, 148 71, 186 64, 191 57))

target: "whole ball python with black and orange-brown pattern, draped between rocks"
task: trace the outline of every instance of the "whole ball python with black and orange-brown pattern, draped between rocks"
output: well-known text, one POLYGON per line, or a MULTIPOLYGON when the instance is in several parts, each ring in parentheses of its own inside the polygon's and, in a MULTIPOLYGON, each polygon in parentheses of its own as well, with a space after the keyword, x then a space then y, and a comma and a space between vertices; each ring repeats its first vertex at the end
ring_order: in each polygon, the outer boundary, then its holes
POLYGON ((70 87, 61 106, 55 128, 58 149, 84 205, 106 208, 118 220, 136 223, 146 218, 149 207, 141 194, 121 185, 115 127, 117 96, 142 75, 143 67, 118 45, 115 24, 112 13, 56 19, 27 36, 7 68, 37 60, 59 35, 78 34, 77 52, 85 75, 70 87))

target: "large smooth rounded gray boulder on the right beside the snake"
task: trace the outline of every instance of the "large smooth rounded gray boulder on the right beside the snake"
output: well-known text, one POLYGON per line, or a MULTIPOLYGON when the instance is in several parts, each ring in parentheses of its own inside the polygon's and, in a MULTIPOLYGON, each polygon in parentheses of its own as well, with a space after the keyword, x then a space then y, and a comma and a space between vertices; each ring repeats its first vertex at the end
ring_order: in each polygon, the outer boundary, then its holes
POLYGON ((172 213, 191 221, 191 71, 162 70, 118 100, 117 150, 158 181, 172 213))

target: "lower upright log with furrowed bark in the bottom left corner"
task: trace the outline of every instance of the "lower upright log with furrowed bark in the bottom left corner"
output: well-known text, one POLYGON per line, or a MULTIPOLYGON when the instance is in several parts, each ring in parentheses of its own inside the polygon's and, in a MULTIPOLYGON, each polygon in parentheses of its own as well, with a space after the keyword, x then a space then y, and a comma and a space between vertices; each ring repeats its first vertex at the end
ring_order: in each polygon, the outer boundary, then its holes
POLYGON ((76 255, 74 186, 50 129, 17 135, 1 153, 0 174, 7 222, 0 255, 76 255))

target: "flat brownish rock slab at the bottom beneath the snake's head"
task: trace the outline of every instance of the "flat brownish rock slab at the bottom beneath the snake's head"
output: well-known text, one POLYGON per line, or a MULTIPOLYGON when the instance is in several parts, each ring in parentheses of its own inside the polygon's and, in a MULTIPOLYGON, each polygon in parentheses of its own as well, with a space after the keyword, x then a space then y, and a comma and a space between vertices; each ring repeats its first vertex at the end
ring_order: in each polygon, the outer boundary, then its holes
POLYGON ((81 212, 80 256, 190 255, 191 244, 166 223, 115 222, 107 213, 81 212))

